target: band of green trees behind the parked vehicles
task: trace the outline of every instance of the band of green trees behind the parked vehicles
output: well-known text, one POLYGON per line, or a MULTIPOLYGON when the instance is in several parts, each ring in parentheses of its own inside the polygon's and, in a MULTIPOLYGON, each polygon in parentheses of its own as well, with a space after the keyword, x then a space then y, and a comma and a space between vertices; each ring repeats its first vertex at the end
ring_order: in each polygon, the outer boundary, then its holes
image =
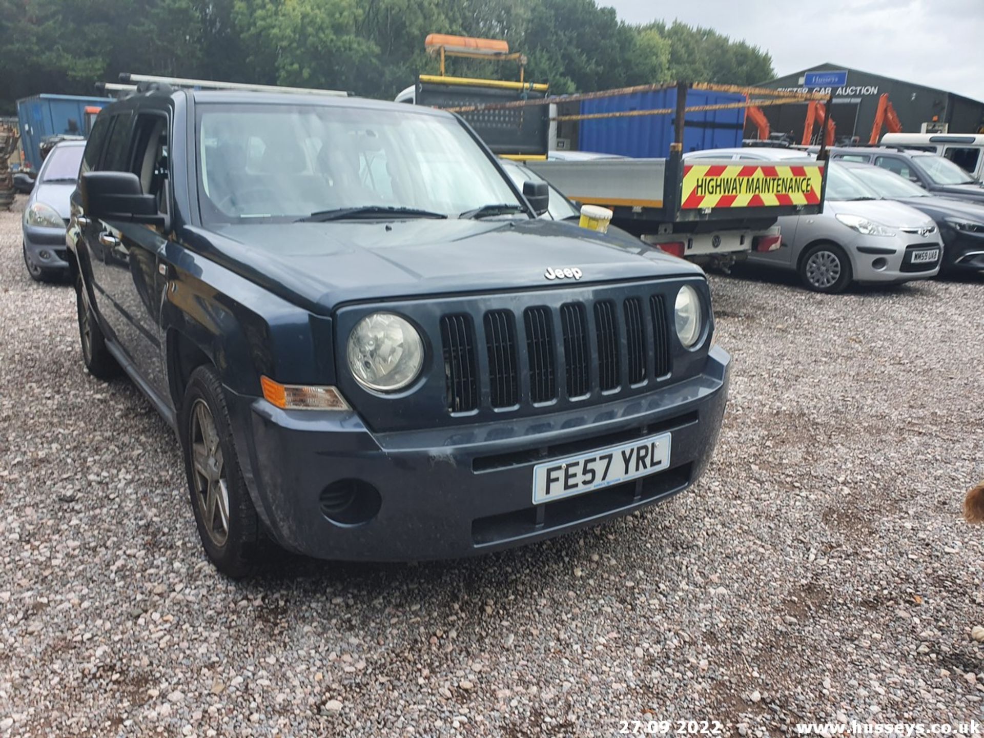
MULTIPOLYGON (((769 79, 769 54, 709 29, 632 26, 595 0, 0 0, 0 110, 38 92, 92 94, 119 72, 392 97, 434 73, 431 32, 504 38, 554 92, 668 80, 769 79)), ((515 79, 455 59, 449 74, 515 79)))

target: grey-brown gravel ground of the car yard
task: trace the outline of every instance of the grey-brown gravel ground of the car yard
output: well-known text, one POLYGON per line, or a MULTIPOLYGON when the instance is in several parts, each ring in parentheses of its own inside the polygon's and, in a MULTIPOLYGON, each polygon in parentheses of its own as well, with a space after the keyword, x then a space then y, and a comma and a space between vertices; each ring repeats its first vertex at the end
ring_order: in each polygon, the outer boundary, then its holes
POLYGON ((84 373, 72 290, 31 282, 20 239, 0 214, 0 734, 984 718, 984 529, 959 517, 984 477, 981 280, 712 277, 735 365, 692 491, 484 558, 289 559, 234 584, 174 436, 84 373))

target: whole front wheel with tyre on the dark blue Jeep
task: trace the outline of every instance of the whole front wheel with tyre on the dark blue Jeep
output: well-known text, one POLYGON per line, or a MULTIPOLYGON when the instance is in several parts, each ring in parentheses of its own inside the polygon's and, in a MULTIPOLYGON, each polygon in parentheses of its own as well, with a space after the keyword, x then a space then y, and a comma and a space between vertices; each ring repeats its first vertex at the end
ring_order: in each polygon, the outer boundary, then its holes
POLYGON ((192 372, 180 432, 191 506, 205 552, 225 576, 245 577, 259 562, 267 539, 243 481, 225 394, 211 366, 192 372))

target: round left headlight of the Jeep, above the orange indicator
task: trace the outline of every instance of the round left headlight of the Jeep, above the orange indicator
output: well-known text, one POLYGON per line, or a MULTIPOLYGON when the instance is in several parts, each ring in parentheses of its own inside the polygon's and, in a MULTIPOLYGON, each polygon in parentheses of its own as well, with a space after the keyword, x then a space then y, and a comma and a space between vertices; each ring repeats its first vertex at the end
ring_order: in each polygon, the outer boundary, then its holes
POLYGON ((424 361, 420 335, 393 313, 373 313, 348 337, 348 368, 363 387, 394 392, 416 379, 424 361))

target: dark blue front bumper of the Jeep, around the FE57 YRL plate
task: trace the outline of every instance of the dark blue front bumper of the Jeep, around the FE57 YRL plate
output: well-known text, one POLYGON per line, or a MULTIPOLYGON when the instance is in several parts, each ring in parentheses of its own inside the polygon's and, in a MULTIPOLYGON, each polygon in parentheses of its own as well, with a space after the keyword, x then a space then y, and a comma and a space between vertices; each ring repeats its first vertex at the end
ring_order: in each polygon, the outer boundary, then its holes
POLYGON ((730 357, 647 395, 486 425, 372 433, 354 413, 283 411, 227 391, 246 484, 277 542, 324 559, 404 561, 507 548, 626 515, 692 484, 707 467, 727 397, 730 357), (657 433, 673 434, 667 468, 532 505, 532 467, 657 433), (382 504, 368 522, 335 523, 320 496, 358 479, 382 504))

